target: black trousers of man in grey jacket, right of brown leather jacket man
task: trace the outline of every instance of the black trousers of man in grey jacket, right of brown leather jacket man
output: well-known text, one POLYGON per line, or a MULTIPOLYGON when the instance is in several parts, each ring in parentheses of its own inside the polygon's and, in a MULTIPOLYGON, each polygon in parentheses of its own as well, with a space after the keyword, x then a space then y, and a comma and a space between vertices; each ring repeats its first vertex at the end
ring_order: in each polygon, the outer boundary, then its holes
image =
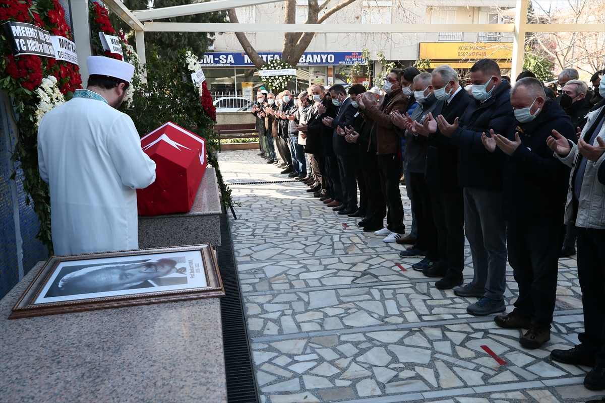
POLYGON ((414 203, 412 208, 416 216, 418 233, 416 235, 416 248, 427 251, 427 259, 437 261, 437 227, 433 219, 433 206, 431 205, 431 192, 424 181, 424 173, 410 172, 410 189, 414 203))

